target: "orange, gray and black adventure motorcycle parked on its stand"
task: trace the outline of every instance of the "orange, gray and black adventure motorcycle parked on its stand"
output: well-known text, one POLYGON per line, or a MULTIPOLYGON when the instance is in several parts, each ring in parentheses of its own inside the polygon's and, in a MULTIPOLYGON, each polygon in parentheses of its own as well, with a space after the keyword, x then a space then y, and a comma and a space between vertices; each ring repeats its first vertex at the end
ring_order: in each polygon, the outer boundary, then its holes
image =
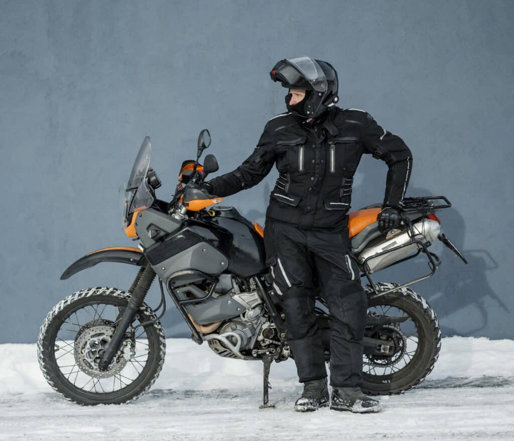
MULTIPOLYGON (((196 160, 182 163, 170 202, 156 198, 161 182, 150 168, 150 138, 144 138, 127 184, 120 188, 123 228, 139 240, 137 248, 97 250, 72 263, 67 279, 100 262, 122 262, 139 271, 127 290, 96 287, 72 293, 48 313, 38 337, 38 359, 50 386, 83 405, 126 403, 150 389, 166 352, 160 319, 166 292, 197 344, 207 342, 219 356, 263 362, 263 405, 273 360, 294 358, 286 340, 281 296, 265 264, 264 229, 218 205, 201 183, 218 170, 207 130, 200 132, 196 160), (144 300, 157 277, 160 304, 144 300)), ((405 198, 402 223, 381 233, 380 204, 349 213, 352 255, 369 284, 368 316, 363 339, 363 391, 398 394, 425 379, 437 360, 441 333, 436 314, 408 286, 431 277, 440 264, 428 247, 437 238, 467 263, 440 233, 435 212, 451 203, 444 196, 405 198), (440 203, 444 201, 444 203, 440 203), (405 284, 373 283, 371 275, 416 257, 428 259, 431 272, 405 284), (422 256, 423 257, 423 256, 422 256)), ((350 262, 347 262, 350 264, 350 262)), ((322 293, 315 313, 329 362, 330 314, 322 293)))

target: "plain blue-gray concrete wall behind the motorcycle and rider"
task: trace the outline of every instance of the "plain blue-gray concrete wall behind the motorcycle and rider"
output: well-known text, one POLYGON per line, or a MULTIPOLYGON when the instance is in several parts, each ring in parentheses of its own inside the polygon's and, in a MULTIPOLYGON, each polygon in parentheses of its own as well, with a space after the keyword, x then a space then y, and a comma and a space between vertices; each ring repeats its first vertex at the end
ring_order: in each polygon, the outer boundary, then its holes
MULTIPOLYGON (((48 310, 89 286, 128 288, 134 267, 104 264, 69 280, 69 263, 133 246, 117 190, 144 135, 166 199, 200 129, 220 173, 234 169, 285 90, 284 57, 339 72, 341 107, 365 109, 412 149, 407 196, 446 195, 446 248, 416 285, 445 334, 514 338, 512 173, 514 4, 509 1, 0 3, 2 280, 0 342, 33 342, 48 310)), ((224 203, 264 221, 273 170, 224 203)), ((387 167, 366 155, 353 207, 381 202, 387 167)), ((407 280, 416 268, 377 279, 407 280)), ((157 303, 153 287, 150 303, 157 303)), ((167 335, 189 336, 175 310, 167 335)))

